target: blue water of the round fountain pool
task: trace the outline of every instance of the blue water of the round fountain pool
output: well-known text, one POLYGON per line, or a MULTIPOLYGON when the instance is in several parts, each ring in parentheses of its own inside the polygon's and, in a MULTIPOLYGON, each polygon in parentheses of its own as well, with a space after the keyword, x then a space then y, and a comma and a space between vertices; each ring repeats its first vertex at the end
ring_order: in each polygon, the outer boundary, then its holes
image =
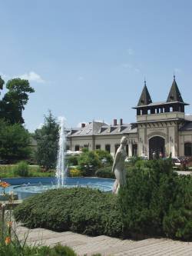
MULTIPOLYGON (((4 178, 11 186, 6 192, 13 191, 18 194, 18 199, 25 199, 34 194, 39 194, 48 189, 57 188, 56 178, 4 178)), ((114 179, 111 178, 65 178, 64 188, 93 188, 104 192, 111 192, 114 179)), ((0 188, 0 192, 2 188, 0 188)))

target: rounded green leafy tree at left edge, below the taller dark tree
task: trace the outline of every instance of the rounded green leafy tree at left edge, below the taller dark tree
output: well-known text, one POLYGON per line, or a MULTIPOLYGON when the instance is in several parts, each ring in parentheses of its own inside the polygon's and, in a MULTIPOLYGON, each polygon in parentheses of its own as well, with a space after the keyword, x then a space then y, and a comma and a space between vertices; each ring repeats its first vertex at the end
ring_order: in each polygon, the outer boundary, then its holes
POLYGON ((0 158, 9 161, 28 158, 31 153, 30 138, 22 125, 9 125, 0 119, 0 158))

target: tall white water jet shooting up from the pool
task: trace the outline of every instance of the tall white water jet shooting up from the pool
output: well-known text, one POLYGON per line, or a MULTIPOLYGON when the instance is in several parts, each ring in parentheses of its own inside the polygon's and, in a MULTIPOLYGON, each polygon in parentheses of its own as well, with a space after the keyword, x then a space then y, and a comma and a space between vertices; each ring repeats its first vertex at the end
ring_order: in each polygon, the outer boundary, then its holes
POLYGON ((67 177, 67 168, 65 166, 66 137, 65 137, 65 118, 60 119, 59 140, 58 140, 58 159, 56 167, 56 178, 58 188, 63 187, 64 180, 67 177))

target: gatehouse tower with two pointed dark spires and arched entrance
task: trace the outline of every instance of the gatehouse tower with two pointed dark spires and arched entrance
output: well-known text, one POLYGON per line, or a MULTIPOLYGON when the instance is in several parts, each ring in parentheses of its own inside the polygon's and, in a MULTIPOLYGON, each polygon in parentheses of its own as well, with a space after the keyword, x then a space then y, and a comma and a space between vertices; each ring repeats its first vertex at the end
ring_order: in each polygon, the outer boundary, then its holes
POLYGON ((180 95, 174 80, 166 101, 153 102, 144 80, 137 110, 138 155, 153 158, 153 153, 179 155, 179 129, 185 123, 184 107, 188 105, 180 95))

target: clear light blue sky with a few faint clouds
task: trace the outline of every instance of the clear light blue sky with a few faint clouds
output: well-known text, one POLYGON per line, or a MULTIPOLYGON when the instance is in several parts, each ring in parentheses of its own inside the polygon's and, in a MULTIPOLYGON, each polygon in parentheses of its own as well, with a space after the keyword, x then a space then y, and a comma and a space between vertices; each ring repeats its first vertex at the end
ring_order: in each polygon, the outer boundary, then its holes
POLYGON ((134 122, 144 78, 152 101, 166 101, 175 74, 192 104, 190 0, 0 0, 0 35, 0 75, 35 88, 29 131, 48 110, 68 128, 134 122))

